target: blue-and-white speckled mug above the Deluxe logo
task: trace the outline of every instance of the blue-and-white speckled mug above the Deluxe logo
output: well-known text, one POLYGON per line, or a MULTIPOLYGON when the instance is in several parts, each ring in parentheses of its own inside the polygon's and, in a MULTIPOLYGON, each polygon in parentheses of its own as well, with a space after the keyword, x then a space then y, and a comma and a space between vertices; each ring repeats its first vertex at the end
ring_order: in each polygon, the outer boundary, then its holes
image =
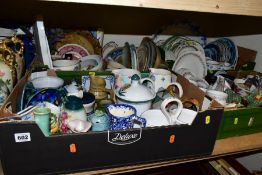
POLYGON ((110 129, 130 129, 139 123, 141 127, 146 126, 146 120, 136 115, 136 109, 127 104, 111 104, 106 106, 106 113, 110 118, 110 129))

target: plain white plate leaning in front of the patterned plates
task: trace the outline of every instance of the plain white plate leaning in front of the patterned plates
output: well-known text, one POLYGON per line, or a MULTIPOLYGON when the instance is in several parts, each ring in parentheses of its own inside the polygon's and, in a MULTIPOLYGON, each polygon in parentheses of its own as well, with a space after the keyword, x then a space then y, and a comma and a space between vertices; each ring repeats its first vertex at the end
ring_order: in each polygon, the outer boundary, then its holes
POLYGON ((173 64, 172 70, 177 72, 181 68, 190 70, 199 79, 207 75, 205 56, 199 51, 184 52, 181 54, 173 64))

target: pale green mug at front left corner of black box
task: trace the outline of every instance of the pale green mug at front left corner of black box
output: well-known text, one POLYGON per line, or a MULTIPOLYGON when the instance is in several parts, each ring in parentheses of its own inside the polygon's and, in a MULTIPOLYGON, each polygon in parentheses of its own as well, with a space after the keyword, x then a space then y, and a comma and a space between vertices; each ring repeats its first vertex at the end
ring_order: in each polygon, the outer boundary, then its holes
POLYGON ((46 107, 38 107, 33 110, 35 122, 38 127, 41 129, 45 136, 49 136, 49 115, 51 113, 51 109, 46 107))

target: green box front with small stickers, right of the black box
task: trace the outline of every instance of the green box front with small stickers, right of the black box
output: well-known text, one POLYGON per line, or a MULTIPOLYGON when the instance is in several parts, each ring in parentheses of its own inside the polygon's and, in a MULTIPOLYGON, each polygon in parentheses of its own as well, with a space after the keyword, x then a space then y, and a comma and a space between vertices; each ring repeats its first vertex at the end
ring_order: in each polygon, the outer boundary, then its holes
POLYGON ((262 131, 262 108, 224 111, 217 139, 262 131))

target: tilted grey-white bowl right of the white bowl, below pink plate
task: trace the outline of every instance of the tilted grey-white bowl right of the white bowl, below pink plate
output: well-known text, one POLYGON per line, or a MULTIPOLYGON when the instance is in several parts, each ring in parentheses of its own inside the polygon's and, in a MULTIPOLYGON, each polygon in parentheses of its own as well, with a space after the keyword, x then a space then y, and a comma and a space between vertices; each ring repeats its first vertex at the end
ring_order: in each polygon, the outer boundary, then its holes
POLYGON ((89 55, 81 58, 81 70, 99 71, 102 69, 102 58, 100 55, 89 55))

